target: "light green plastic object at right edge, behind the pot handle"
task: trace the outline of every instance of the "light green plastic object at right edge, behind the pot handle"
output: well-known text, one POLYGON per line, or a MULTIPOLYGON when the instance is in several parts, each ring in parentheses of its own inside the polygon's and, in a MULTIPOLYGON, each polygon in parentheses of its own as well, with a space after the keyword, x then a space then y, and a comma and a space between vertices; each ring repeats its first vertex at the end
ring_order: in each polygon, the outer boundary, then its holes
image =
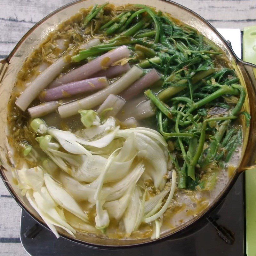
MULTIPOLYGON (((256 26, 244 28, 243 59, 256 65, 256 26)), ((254 69, 256 77, 256 70, 254 69)), ((256 256, 256 169, 245 171, 246 255, 256 256)))

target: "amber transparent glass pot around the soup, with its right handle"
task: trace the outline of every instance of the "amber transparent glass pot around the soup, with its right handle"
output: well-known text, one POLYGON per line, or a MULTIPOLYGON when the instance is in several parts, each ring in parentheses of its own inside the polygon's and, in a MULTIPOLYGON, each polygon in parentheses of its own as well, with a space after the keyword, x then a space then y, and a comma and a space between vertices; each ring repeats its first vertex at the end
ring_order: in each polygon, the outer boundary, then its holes
MULTIPOLYGON (((55 30, 58 24, 68 19, 79 11, 80 8, 88 8, 94 4, 103 4, 104 0, 80 0, 71 4, 65 5, 60 9, 52 12, 43 20, 39 21, 33 28, 31 28, 20 42, 15 46, 10 55, 0 62, 0 174, 4 183, 16 202, 26 211, 28 214, 38 221, 41 225, 47 228, 41 217, 30 206, 26 197, 20 194, 20 190, 13 184, 11 167, 14 166, 12 160, 12 149, 8 145, 7 141, 7 104, 11 96, 13 86, 16 81, 16 76, 21 69, 23 62, 29 56, 29 54, 46 38, 49 32, 55 30)), ((138 4, 137 0, 111 0, 112 4, 138 4)), ((71 237, 68 233, 62 229, 58 229, 60 236, 71 240, 76 243, 97 246, 101 248, 120 248, 136 246, 141 244, 153 243, 160 241, 164 238, 172 239, 177 234, 184 232, 191 225, 198 225, 199 221, 207 216, 214 208, 216 208, 224 197, 227 195, 237 177, 241 172, 246 169, 252 169, 256 159, 256 66, 246 63, 236 57, 231 47, 225 41, 225 39, 219 34, 219 32, 212 27, 206 20, 200 17, 195 12, 176 4, 169 0, 147 0, 141 1, 141 4, 147 4, 153 6, 156 10, 161 10, 170 13, 174 18, 181 20, 183 23, 195 28, 205 37, 212 40, 217 44, 227 55, 230 62, 236 69, 237 75, 242 85, 245 86, 247 91, 247 97, 244 103, 244 109, 251 115, 251 123, 248 128, 244 124, 244 143, 242 148, 242 155, 237 165, 236 171, 230 178, 228 184, 219 194, 219 196, 210 204, 203 212, 197 215, 192 220, 180 225, 176 229, 172 229, 162 233, 158 240, 145 238, 145 239, 110 239, 103 236, 95 236, 90 234, 78 233, 76 238, 71 237)))

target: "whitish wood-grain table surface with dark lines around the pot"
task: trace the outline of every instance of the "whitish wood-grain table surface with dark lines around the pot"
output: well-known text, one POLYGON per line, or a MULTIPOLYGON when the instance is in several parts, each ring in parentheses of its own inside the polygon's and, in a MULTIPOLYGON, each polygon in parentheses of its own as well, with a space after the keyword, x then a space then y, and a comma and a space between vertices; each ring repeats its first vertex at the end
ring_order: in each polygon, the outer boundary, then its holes
MULTIPOLYGON (((0 59, 44 16, 70 0, 1 0, 0 59)), ((143 1, 142 1, 143 2, 143 1)), ((256 24, 256 0, 176 0, 216 28, 244 28, 256 24)), ((146 1, 145 1, 146 3, 146 1)), ((19 238, 20 207, 0 181, 0 255, 28 255, 19 238)), ((50 256, 50 255, 49 255, 50 256)))

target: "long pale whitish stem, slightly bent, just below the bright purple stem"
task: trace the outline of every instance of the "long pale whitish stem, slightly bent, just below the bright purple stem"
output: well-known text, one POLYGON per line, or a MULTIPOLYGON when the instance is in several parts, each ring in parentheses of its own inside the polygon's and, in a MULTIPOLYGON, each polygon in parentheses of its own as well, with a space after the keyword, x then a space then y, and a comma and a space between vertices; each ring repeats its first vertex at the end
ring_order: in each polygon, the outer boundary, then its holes
POLYGON ((65 118, 75 115, 79 109, 91 109, 100 105, 104 100, 107 99, 109 94, 119 94, 137 79, 139 79, 142 74, 143 70, 141 68, 133 66, 124 76, 119 78, 113 84, 109 85, 107 88, 85 97, 84 99, 76 100, 60 106, 58 108, 60 116, 65 118))

